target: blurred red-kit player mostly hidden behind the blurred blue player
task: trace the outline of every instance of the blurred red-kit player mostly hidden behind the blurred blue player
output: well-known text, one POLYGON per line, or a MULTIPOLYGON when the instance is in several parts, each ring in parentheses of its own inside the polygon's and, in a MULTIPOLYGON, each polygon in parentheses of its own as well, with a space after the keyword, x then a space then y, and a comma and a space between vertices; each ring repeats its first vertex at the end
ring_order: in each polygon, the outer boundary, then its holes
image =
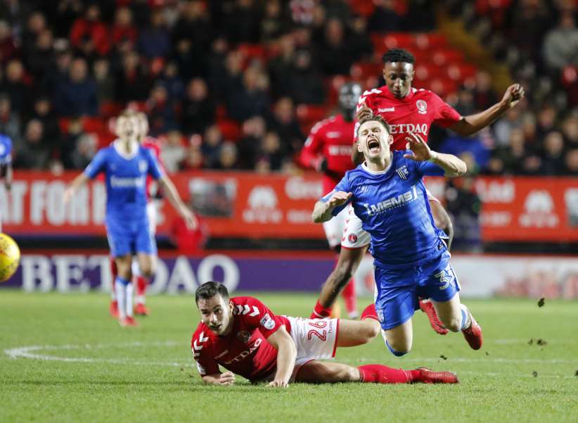
MULTIPOLYGON (((161 169, 162 161, 160 160, 160 145, 158 140, 153 137, 148 137, 148 118, 143 112, 135 112, 134 116, 136 118, 136 128, 137 128, 137 140, 145 149, 150 149, 153 152, 155 158, 157 159, 161 169)), ((164 169, 163 169, 164 171, 164 169)), ((157 229, 157 214, 158 208, 160 207, 161 192, 150 175, 146 178, 146 214, 148 216, 148 224, 151 234, 155 236, 157 229)), ((117 277, 117 267, 114 258, 110 260, 110 270, 113 274, 113 280, 117 277)), ((136 285, 136 305, 134 307, 134 314, 147 316, 148 308, 146 307, 146 288, 150 283, 150 278, 146 277, 139 266, 139 260, 136 256, 132 258, 132 276, 133 282, 136 285)), ((115 290, 111 291, 111 301, 110 301, 110 315, 113 317, 118 317, 118 303, 116 298, 115 290)))

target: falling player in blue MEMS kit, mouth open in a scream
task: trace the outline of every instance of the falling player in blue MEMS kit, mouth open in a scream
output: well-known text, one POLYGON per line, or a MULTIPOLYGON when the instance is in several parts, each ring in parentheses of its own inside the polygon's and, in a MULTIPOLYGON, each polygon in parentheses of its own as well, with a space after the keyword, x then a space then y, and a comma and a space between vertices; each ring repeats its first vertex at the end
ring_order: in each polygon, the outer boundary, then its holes
POLYGON ((463 332, 470 347, 480 349, 482 329, 460 302, 444 233, 434 225, 422 181, 425 175, 463 175, 465 163, 431 151, 414 133, 406 137, 406 151, 390 151, 390 127, 380 116, 366 116, 359 124, 357 148, 365 161, 315 204, 314 222, 330 220, 352 203, 371 235, 375 309, 394 355, 411 350, 411 317, 419 307, 418 297, 430 298, 444 326, 463 332))

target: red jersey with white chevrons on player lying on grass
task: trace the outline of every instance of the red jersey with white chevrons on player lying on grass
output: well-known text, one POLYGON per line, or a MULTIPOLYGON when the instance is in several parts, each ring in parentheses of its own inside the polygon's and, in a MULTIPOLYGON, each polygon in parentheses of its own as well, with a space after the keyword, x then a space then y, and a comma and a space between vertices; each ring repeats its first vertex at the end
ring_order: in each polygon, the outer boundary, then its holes
POLYGON ((191 351, 201 376, 219 372, 219 365, 249 380, 264 379, 276 371, 277 350, 267 338, 285 324, 286 317, 276 316, 253 297, 233 297, 233 329, 227 336, 217 336, 203 322, 191 341, 191 351))

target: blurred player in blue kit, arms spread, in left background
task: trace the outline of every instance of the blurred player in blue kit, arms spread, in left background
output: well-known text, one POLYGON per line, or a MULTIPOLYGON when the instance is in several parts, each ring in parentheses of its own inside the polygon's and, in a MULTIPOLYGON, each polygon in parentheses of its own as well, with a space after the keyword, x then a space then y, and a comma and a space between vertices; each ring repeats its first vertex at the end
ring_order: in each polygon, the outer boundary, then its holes
POLYGON ((134 112, 122 113, 117 118, 119 138, 96 153, 64 195, 64 201, 70 201, 82 185, 101 172, 105 174, 105 225, 110 253, 115 258, 118 270, 114 289, 122 326, 136 326, 132 304, 134 287, 131 282, 133 253, 137 255, 141 272, 146 277, 154 274, 156 264, 157 247, 146 213, 147 175, 158 181, 160 189, 188 227, 196 225, 195 215, 181 201, 174 184, 162 171, 153 152, 139 144, 136 125, 138 121, 134 112))

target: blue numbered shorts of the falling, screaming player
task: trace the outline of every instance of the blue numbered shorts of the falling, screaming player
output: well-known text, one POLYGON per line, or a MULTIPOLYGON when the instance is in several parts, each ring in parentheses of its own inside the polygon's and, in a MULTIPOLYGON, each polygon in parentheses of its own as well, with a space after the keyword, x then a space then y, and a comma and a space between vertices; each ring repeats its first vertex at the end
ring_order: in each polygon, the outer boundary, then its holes
POLYGON ((375 267, 375 310, 384 330, 404 324, 419 308, 419 297, 449 301, 460 291, 460 284, 449 263, 450 254, 423 265, 402 268, 375 267))

